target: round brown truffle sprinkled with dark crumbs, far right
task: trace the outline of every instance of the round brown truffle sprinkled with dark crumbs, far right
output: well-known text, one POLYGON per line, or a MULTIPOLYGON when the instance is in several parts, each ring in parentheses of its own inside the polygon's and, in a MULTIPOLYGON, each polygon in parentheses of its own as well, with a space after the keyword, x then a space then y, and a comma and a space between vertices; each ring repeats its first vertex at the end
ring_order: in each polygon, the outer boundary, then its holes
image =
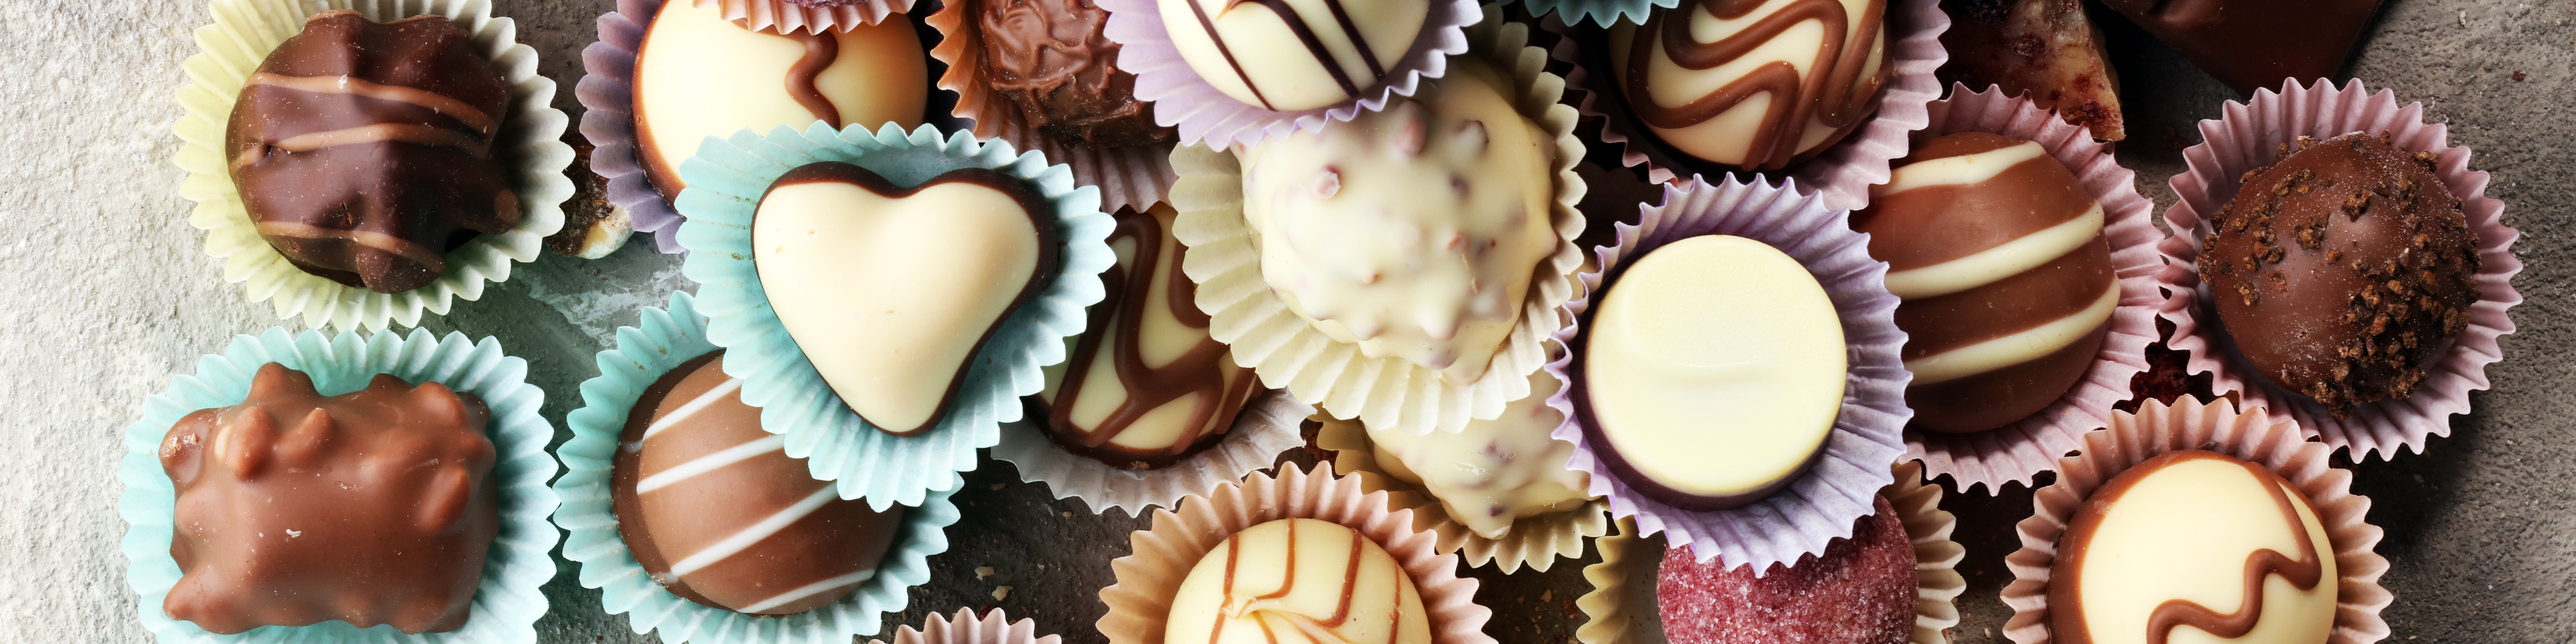
POLYGON ((2200 278, 2257 374, 2334 417, 2424 381, 2478 301, 2478 234, 2432 162, 2354 131, 2244 175, 2200 278))

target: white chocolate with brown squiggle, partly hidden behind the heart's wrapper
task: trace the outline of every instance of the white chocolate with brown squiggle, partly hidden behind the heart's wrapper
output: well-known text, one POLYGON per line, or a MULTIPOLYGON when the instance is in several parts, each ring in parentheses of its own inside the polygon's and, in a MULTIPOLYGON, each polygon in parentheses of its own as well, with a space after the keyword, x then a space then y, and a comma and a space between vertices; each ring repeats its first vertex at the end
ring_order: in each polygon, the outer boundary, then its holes
POLYGON ((930 95, 930 54, 909 21, 832 33, 750 31, 721 3, 667 0, 636 46, 636 160, 662 198, 680 198, 680 162, 706 137, 750 129, 914 129, 930 95))

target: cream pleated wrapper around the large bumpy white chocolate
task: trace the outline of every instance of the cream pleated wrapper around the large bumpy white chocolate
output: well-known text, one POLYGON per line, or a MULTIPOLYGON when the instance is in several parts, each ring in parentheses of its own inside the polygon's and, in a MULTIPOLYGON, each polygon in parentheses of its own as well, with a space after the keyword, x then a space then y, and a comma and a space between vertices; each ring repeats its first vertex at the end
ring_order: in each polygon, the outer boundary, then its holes
MULTIPOLYGON (((1486 8, 1494 13, 1494 8, 1486 8)), ((1262 376, 1265 386, 1288 389, 1298 402, 1321 404, 1334 417, 1360 417, 1370 428, 1396 428, 1406 433, 1455 433, 1471 417, 1497 417, 1502 404, 1528 397, 1528 374, 1548 361, 1548 332, 1566 322, 1564 301, 1579 296, 1574 273, 1582 270, 1582 250, 1574 237, 1584 232, 1584 216, 1574 204, 1584 198, 1584 180, 1574 175, 1574 162, 1584 157, 1582 139, 1574 137, 1574 108, 1558 100, 1564 80, 1546 72, 1546 52, 1528 46, 1530 31, 1520 23, 1484 21, 1466 31, 1473 44, 1466 57, 1484 57, 1497 70, 1510 70, 1522 116, 1556 137, 1556 252, 1540 263, 1540 276, 1520 307, 1520 322, 1510 340, 1494 350, 1494 363, 1476 381, 1448 381, 1435 368, 1404 358, 1368 358, 1360 345, 1332 340, 1298 319, 1270 283, 1262 281, 1262 250, 1252 227, 1244 224, 1242 162, 1231 152, 1182 144, 1172 149, 1172 206, 1180 219, 1172 237, 1190 247, 1182 273, 1198 283, 1198 309, 1213 319, 1208 335, 1234 348, 1234 361, 1262 376)), ((1136 52, 1131 44, 1126 52, 1136 52)))

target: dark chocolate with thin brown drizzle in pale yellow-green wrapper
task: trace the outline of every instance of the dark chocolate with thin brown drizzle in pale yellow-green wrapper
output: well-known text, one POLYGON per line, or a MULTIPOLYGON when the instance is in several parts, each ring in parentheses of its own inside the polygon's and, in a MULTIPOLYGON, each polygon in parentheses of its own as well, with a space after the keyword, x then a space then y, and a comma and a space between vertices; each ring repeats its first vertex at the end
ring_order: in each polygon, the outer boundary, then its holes
POLYGON ((250 75, 224 149, 278 255, 399 294, 438 281, 477 232, 518 224, 492 149, 507 108, 510 85, 453 21, 325 10, 250 75))

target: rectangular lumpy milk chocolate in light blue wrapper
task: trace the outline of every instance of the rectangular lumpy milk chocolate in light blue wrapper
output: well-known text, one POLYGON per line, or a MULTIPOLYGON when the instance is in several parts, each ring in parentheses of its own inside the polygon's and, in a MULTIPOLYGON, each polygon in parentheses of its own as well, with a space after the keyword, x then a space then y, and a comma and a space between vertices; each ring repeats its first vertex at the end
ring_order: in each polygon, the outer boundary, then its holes
POLYGON ((242 404, 162 438, 180 569, 162 611, 216 634, 464 626, 500 531, 484 420, 482 399, 435 381, 376 374, 322 397, 304 371, 260 366, 242 404))

